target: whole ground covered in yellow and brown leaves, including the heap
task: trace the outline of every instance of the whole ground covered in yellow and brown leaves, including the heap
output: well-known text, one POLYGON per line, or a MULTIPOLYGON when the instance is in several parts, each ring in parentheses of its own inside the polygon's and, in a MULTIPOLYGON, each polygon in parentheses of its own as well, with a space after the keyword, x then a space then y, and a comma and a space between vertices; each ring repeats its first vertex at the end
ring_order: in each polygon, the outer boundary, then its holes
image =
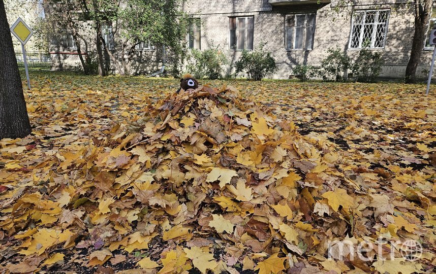
POLYGON ((0 141, 2 272, 434 271, 423 85, 31 78, 33 133, 0 141))

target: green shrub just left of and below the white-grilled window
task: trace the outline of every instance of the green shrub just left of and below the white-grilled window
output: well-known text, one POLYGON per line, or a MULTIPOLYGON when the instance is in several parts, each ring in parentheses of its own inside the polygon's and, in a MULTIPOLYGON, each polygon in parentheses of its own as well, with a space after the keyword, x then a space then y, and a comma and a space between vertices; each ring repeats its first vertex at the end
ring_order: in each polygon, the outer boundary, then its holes
POLYGON ((327 57, 321 61, 319 76, 324 81, 329 79, 342 81, 342 75, 344 75, 344 72, 346 72, 350 66, 350 57, 339 48, 329 48, 327 53, 327 57))

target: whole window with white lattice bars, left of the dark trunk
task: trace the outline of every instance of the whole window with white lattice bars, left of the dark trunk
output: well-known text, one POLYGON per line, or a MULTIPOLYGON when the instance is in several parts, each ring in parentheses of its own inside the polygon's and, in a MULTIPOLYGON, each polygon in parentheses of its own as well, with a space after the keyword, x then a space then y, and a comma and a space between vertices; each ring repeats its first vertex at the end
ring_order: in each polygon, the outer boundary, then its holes
POLYGON ((350 48, 384 48, 389 11, 358 11, 353 14, 350 48))

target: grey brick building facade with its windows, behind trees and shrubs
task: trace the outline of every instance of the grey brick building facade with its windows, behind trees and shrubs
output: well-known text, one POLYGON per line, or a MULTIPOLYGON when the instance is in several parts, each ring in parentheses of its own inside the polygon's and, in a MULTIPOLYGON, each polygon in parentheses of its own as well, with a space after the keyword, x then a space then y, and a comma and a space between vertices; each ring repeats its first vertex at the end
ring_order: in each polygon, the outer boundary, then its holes
MULTIPOLYGON (((181 7, 200 22, 189 33, 189 48, 219 46, 234 62, 242 49, 266 43, 265 48, 272 52, 278 66, 272 78, 289 78, 297 64, 319 65, 330 47, 340 48, 351 58, 362 48, 381 52, 385 61, 381 77, 403 78, 412 49, 413 3, 362 0, 353 1, 339 13, 336 8, 337 0, 187 0, 181 7)), ((431 17, 429 29, 436 13, 431 17)), ((112 45, 113 54, 119 55, 112 27, 104 29, 105 40, 112 45)), ((90 32, 88 36, 93 35, 90 32)), ((75 46, 68 41, 68 33, 51 39, 53 70, 78 62, 75 46)), ((88 50, 93 46, 90 40, 88 50)), ((426 77, 432 49, 428 41, 422 46, 418 77, 426 77)), ((148 74, 159 70, 162 63, 162 48, 144 43, 135 51, 131 73, 148 74)))

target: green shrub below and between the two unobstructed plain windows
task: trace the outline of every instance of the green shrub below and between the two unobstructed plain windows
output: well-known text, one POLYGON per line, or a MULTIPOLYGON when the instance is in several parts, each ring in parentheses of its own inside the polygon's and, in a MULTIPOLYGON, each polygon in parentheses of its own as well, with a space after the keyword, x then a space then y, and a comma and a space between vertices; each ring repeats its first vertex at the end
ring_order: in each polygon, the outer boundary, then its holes
POLYGON ((235 74, 246 72, 250 80, 260 81, 267 74, 277 70, 274 57, 271 52, 264 50, 265 43, 261 43, 256 50, 242 51, 242 56, 235 62, 235 74))

